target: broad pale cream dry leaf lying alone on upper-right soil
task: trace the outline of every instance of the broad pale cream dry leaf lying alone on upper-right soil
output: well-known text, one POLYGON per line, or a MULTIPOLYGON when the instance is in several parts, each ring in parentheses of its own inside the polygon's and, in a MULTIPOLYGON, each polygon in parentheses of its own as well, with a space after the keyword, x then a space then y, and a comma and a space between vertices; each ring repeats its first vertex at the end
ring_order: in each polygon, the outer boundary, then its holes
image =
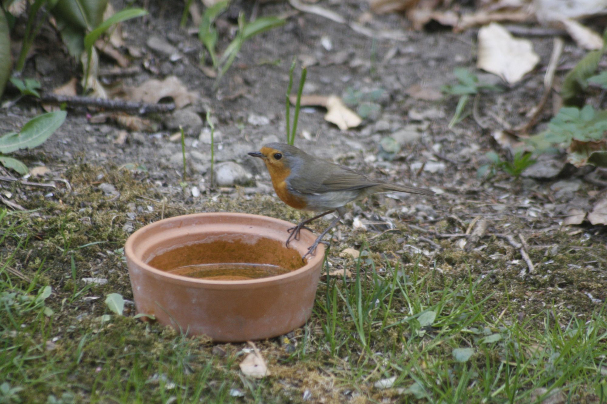
POLYGON ((479 69, 514 83, 531 72, 539 61, 531 41, 514 38, 500 24, 492 22, 478 31, 479 69))

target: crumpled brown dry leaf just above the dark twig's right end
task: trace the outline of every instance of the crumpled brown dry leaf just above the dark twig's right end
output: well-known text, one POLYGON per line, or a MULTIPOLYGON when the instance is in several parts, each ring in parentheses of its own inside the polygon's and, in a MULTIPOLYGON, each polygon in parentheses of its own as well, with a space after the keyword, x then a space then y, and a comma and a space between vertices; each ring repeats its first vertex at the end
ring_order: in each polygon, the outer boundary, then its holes
POLYGON ((186 86, 175 76, 168 76, 163 81, 151 79, 139 87, 127 89, 127 98, 132 101, 144 101, 155 104, 163 98, 171 97, 175 107, 181 109, 198 98, 196 93, 189 92, 186 86), (130 90, 130 94, 128 94, 130 90))

